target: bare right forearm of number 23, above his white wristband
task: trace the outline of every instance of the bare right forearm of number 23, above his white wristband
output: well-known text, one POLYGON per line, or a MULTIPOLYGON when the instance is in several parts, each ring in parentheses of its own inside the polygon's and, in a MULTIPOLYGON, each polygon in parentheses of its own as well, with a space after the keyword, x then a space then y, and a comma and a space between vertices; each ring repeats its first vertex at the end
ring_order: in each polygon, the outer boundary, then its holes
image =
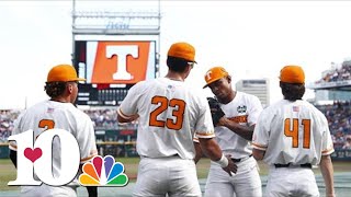
POLYGON ((200 147, 202 152, 207 155, 212 161, 218 161, 222 158, 222 150, 219 149, 217 142, 211 138, 199 138, 200 147))

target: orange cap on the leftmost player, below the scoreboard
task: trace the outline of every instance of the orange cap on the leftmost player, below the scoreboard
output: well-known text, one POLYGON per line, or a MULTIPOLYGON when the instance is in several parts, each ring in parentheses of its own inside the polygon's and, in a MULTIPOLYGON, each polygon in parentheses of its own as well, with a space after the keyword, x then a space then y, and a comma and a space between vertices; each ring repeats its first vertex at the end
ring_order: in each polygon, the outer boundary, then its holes
POLYGON ((77 77, 75 67, 70 65, 57 65, 48 72, 46 82, 54 81, 86 81, 86 79, 77 77))

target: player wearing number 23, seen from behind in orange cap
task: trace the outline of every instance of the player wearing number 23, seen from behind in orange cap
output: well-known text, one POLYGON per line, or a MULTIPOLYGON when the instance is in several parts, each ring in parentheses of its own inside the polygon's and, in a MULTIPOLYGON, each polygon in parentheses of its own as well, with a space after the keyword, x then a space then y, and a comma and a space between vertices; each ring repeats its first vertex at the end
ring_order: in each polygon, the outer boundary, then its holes
POLYGON ((171 45, 166 77, 135 84, 117 109, 120 123, 139 117, 136 144, 140 163, 134 196, 202 195, 193 161, 194 132, 204 152, 225 173, 236 172, 236 165, 213 139, 206 99, 184 83, 195 63, 192 45, 171 45))

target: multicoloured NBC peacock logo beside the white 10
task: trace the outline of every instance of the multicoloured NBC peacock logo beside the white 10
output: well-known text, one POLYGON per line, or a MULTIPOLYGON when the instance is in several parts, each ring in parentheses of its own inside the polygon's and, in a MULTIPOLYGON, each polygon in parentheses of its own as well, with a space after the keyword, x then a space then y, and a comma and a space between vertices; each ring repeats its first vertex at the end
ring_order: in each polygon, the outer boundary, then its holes
POLYGON ((123 187, 128 183, 123 163, 115 162, 112 155, 94 157, 91 162, 83 164, 82 171, 79 176, 82 186, 123 187))

